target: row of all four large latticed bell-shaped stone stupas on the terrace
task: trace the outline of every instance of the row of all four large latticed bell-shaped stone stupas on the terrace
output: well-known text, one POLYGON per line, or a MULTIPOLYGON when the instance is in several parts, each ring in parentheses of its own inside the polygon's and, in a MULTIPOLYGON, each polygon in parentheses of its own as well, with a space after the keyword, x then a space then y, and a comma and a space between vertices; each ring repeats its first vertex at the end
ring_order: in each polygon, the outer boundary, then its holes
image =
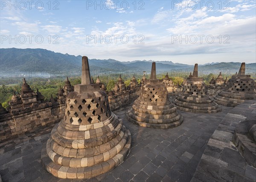
MULTIPOLYGON (((244 74, 244 69, 242 63, 239 74, 233 76, 224 93, 219 94, 232 99, 239 94, 240 98, 255 98, 254 80, 244 74), (237 90, 240 83, 246 86, 237 90), (242 90, 246 87, 250 89, 242 90), (251 94, 252 97, 247 97, 251 94)), ((140 96, 126 115, 137 125, 165 129, 177 127, 183 122, 177 108, 201 113, 221 111, 214 99, 207 96, 207 86, 203 78, 198 77, 197 64, 173 103, 162 80, 156 77, 154 62, 150 79, 146 80, 144 75, 142 82, 140 96)), ((123 85, 121 80, 119 83, 123 85)), ((230 102, 230 99, 226 100, 230 102)), ((227 102, 221 98, 220 104, 223 103, 227 102)), ((75 85, 74 91, 67 95, 66 104, 64 119, 52 129, 42 149, 41 158, 46 170, 59 178, 85 179, 111 171, 121 164, 130 151, 131 134, 122 119, 111 112, 105 91, 98 83, 92 82, 85 56, 82 57, 81 84, 75 85)))

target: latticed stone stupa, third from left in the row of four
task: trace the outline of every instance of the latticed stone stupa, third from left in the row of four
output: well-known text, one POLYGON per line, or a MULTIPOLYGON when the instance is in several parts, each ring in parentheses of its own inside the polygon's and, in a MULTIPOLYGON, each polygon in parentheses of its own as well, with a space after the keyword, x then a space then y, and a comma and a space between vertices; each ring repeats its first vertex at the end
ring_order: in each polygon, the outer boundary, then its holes
POLYGON ((204 79, 198 77, 198 64, 195 64, 193 75, 187 77, 180 94, 174 99, 174 104, 181 111, 195 113, 216 113, 221 108, 207 95, 207 85, 204 79))

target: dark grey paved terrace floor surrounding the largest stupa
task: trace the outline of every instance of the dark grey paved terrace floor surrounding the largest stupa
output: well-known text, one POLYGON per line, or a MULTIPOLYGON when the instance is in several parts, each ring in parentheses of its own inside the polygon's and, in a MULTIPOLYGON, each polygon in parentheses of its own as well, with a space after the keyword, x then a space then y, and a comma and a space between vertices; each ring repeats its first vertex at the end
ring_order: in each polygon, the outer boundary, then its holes
MULTIPOLYGON (((130 154, 113 171, 82 181, 190 181, 208 139, 232 109, 221 106, 222 112, 217 114, 181 111, 183 125, 172 129, 153 129, 128 122, 125 113, 130 107, 114 112, 123 119, 124 125, 131 132, 130 154)), ((3 182, 74 181, 55 178, 41 163, 41 148, 52 128, 53 125, 1 146, 0 175, 3 182)))

